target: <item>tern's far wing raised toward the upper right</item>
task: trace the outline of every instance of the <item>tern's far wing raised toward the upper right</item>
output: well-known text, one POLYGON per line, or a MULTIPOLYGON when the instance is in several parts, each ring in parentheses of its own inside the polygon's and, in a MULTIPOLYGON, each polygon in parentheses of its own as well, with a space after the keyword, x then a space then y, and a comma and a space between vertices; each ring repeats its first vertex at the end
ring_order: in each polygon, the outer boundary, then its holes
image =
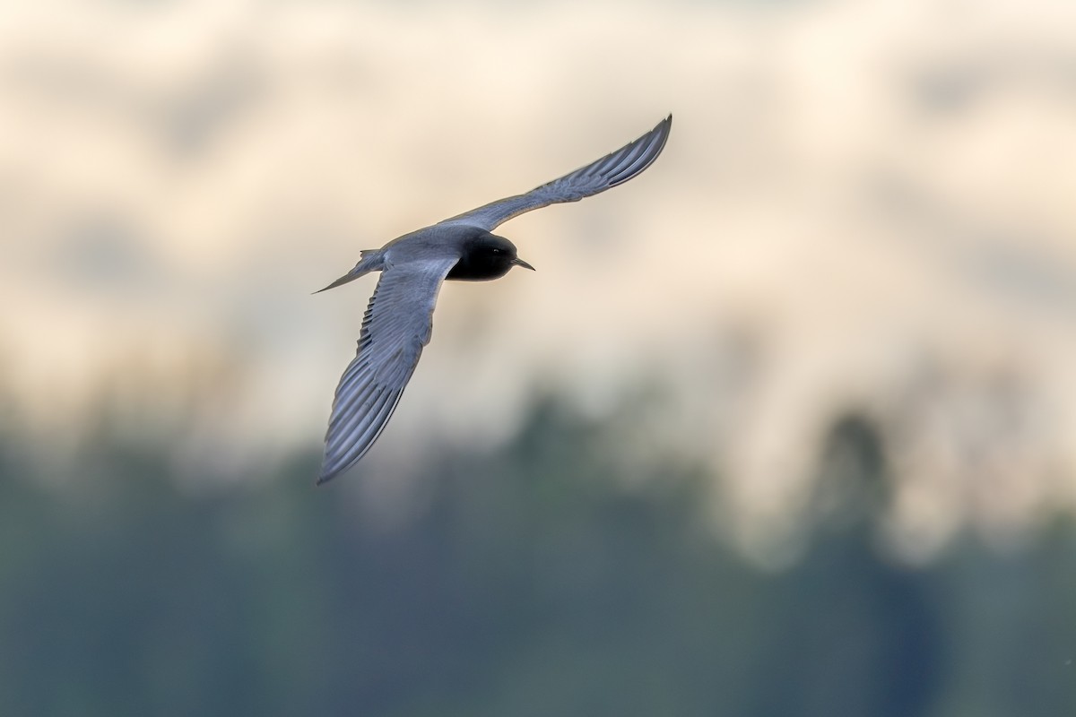
POLYGON ((516 195, 444 219, 439 224, 465 224, 493 231, 496 227, 524 212, 560 202, 578 202, 583 197, 623 184, 650 167, 665 147, 672 115, 657 123, 652 130, 601 159, 581 167, 570 174, 516 195))

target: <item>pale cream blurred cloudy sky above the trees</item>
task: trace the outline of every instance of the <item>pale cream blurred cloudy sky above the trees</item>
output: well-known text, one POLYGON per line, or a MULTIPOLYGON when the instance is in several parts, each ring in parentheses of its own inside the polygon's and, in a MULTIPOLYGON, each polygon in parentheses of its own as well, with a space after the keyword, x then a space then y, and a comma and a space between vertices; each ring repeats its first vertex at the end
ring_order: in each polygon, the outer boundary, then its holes
POLYGON ((105 386, 194 411, 188 456, 314 445, 371 285, 310 290, 672 111, 643 177, 505 228, 537 275, 445 288, 370 460, 656 376, 653 440, 728 476, 747 546, 849 405, 910 551, 1071 510, 1076 11, 1032 4, 8 6, 13 400, 75 434, 105 386))

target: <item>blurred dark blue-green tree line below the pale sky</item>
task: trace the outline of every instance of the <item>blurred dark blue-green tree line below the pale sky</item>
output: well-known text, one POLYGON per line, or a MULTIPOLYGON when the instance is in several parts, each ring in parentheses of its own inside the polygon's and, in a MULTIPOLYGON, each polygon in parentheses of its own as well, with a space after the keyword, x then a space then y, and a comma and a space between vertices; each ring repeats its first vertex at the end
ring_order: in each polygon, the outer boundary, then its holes
POLYGON ((539 401, 506 445, 434 456, 394 522, 313 489, 313 454, 193 489, 167 443, 102 430, 56 487, 6 427, 0 715, 1076 715, 1071 520, 906 567, 850 413, 810 545, 761 572, 702 467, 618 456, 637 419, 539 401))

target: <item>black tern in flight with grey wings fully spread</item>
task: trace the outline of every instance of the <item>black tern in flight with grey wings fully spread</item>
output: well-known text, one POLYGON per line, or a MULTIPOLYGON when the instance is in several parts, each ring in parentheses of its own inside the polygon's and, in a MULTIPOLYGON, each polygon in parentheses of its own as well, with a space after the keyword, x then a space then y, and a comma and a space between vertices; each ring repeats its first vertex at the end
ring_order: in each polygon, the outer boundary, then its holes
POLYGON ((634 142, 558 180, 363 250, 354 269, 321 289, 381 272, 363 315, 358 350, 332 400, 318 484, 354 465, 381 435, 429 343, 442 282, 486 282, 512 267, 534 270, 514 244, 491 232, 524 212, 576 202, 637 176, 657 159, 671 127, 669 115, 634 142))

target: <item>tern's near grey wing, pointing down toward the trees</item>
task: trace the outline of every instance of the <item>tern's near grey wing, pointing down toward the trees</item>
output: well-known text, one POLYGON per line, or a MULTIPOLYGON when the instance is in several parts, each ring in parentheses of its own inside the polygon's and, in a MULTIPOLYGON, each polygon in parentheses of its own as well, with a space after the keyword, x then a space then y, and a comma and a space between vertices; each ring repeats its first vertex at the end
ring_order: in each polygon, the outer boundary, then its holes
POLYGON ((382 272, 363 317, 358 350, 332 399, 318 484, 354 465, 388 422, 429 343, 437 293, 456 261, 412 260, 382 272))

